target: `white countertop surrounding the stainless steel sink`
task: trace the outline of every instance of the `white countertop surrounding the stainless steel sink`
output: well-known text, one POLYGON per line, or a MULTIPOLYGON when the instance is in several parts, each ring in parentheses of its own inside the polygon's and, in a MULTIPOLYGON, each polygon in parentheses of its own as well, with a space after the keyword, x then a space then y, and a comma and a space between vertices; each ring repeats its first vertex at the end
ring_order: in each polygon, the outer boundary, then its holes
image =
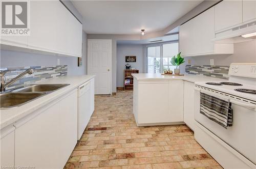
POLYGON ((54 91, 50 94, 44 95, 40 98, 37 98, 33 101, 30 101, 24 105, 10 109, 1 109, 1 129, 31 114, 31 112, 33 112, 34 110, 50 103, 51 101, 62 96, 63 94, 72 91, 73 89, 77 88, 78 86, 82 85, 82 83, 90 80, 93 77, 95 77, 95 75, 63 76, 36 82, 36 84, 68 83, 70 85, 54 91))

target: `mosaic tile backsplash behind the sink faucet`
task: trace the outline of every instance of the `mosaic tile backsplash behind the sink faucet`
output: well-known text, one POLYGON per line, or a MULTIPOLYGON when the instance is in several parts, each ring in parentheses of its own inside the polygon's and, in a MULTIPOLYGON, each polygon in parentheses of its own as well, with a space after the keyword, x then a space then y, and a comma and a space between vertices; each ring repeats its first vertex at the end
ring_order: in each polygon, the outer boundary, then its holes
POLYGON ((34 69, 36 72, 29 75, 25 75, 24 77, 20 78, 16 82, 12 83, 12 85, 7 87, 7 90, 14 89, 18 87, 22 87, 24 85, 28 85, 30 83, 34 83, 36 81, 59 77, 59 76, 66 76, 68 74, 68 65, 59 65, 59 66, 52 66, 52 67, 45 67, 45 66, 27 66, 27 67, 18 67, 18 68, 0 68, 1 71, 3 70, 10 70, 6 73, 6 82, 10 81, 12 78, 16 77, 18 74, 24 72, 27 69, 34 69))

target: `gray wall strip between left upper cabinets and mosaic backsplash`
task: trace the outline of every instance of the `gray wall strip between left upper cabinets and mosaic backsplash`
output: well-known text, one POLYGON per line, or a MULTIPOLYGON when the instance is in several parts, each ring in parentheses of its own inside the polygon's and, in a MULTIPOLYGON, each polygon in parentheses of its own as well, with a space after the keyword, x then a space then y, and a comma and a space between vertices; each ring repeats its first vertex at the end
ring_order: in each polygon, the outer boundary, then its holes
POLYGON ((77 57, 56 57, 54 55, 27 53, 11 50, 2 50, 0 55, 1 67, 20 66, 56 66, 57 59, 60 65, 68 65, 68 75, 87 74, 87 34, 83 32, 82 66, 77 66, 77 57))

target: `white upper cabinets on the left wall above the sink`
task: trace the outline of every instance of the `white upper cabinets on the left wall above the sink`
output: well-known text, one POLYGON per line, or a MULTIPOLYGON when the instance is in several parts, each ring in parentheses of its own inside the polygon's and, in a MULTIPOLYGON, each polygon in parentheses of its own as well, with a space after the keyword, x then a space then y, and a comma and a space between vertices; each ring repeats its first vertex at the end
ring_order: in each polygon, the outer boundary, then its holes
POLYGON ((30 1, 30 36, 1 37, 1 44, 9 50, 82 57, 82 24, 60 1, 30 1))

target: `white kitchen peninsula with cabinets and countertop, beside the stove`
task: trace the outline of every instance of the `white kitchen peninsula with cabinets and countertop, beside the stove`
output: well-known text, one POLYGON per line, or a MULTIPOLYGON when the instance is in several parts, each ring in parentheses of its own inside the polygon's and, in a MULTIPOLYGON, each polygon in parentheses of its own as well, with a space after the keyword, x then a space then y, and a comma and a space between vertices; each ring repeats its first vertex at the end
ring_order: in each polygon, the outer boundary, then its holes
POLYGON ((137 126, 184 124, 194 128, 194 83, 225 81, 216 77, 151 73, 134 77, 133 114, 137 126))

